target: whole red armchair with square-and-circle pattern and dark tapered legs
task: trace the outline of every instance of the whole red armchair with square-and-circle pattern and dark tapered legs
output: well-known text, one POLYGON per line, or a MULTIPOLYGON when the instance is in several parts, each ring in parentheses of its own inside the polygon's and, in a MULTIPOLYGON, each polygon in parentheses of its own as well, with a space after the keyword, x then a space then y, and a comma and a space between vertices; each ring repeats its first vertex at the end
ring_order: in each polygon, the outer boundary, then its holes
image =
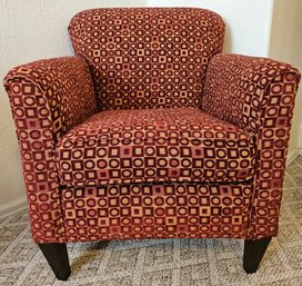
POLYGON ((66 243, 245 239, 254 273, 273 236, 300 75, 223 55, 224 23, 189 8, 94 9, 74 57, 4 79, 33 240, 59 279, 66 243))

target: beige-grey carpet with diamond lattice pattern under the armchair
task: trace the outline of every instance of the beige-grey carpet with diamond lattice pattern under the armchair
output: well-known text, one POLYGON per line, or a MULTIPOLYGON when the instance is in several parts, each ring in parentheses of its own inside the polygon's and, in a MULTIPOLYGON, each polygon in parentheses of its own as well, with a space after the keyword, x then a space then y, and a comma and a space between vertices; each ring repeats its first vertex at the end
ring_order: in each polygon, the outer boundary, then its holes
POLYGON ((32 243, 26 211, 0 220, 0 285, 302 285, 302 157, 285 177, 280 234, 256 274, 242 269, 243 241, 155 239, 70 244, 72 275, 58 282, 32 243))

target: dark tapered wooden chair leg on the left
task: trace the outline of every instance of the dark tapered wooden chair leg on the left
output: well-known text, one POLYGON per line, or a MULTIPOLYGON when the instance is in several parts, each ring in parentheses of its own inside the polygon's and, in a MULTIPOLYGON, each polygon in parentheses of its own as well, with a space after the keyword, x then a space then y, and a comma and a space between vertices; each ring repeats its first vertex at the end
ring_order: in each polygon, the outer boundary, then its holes
POLYGON ((38 244, 49 266, 59 280, 67 280, 70 276, 67 244, 38 244))

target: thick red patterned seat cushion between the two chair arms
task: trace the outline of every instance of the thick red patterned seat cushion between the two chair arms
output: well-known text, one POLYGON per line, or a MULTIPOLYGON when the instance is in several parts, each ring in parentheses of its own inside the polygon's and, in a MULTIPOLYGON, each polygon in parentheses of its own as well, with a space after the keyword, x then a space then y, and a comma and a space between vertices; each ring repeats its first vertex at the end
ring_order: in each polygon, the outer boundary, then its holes
POLYGON ((99 112, 59 139, 63 186, 159 181, 245 181, 254 138, 197 108, 99 112))

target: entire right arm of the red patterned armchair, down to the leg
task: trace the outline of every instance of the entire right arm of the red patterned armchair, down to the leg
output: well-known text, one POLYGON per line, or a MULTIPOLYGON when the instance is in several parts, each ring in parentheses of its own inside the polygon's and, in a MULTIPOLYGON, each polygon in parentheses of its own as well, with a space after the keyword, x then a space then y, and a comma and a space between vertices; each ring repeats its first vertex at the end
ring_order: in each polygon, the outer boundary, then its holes
POLYGON ((299 71, 288 63, 239 55, 210 61, 202 109, 255 137, 249 239, 275 236, 299 71))

